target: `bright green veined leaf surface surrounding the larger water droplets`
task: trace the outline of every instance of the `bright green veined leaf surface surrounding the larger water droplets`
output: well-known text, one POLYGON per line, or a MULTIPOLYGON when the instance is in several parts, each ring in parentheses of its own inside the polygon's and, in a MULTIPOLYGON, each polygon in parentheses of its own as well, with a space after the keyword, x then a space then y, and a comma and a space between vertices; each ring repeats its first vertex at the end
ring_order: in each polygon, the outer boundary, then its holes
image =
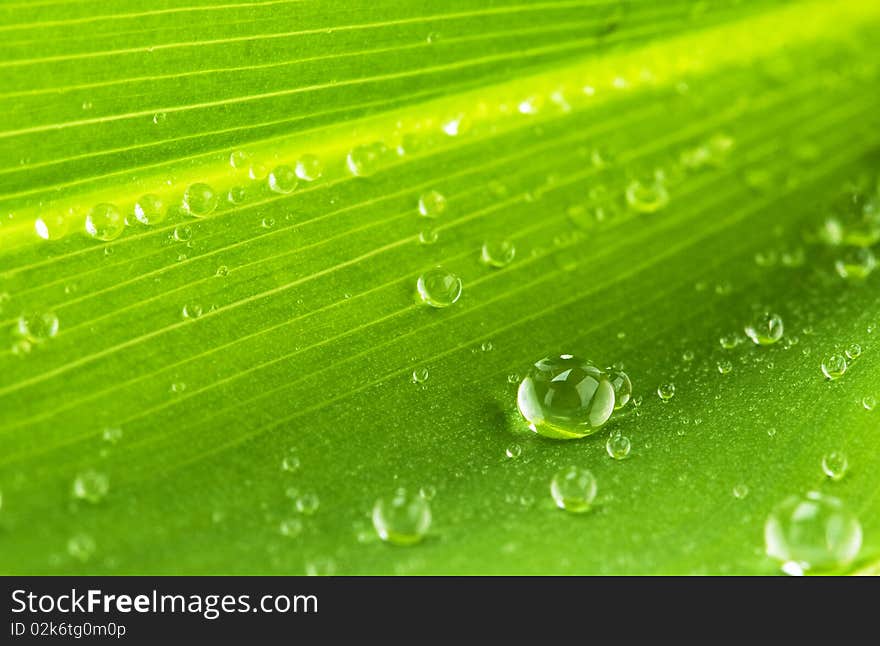
POLYGON ((815 489, 864 532, 837 571, 876 572, 878 26, 867 0, 5 3, 0 570, 763 574, 767 515, 815 489), (634 386, 581 440, 516 406, 564 352, 634 386), (569 465, 589 513, 554 506, 569 465), (371 523, 401 487, 433 493, 408 547, 371 523))

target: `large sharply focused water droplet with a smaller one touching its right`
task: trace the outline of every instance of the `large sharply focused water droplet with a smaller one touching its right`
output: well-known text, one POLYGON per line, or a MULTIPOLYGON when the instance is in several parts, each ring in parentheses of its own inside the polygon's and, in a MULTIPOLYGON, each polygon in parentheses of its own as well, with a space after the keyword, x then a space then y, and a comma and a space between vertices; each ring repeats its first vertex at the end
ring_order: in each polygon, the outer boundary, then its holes
POLYGON ((595 433, 614 411, 614 386, 602 370, 570 354, 541 359, 519 385, 517 406, 545 437, 595 433))

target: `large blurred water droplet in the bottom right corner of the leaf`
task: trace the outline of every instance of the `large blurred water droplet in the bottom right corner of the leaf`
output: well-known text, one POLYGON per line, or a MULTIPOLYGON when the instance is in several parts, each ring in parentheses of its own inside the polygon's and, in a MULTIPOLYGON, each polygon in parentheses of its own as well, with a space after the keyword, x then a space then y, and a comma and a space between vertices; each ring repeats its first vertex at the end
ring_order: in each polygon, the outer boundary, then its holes
POLYGON ((846 567, 862 546, 859 519, 833 496, 810 492, 776 505, 764 524, 768 556, 786 572, 846 567))

